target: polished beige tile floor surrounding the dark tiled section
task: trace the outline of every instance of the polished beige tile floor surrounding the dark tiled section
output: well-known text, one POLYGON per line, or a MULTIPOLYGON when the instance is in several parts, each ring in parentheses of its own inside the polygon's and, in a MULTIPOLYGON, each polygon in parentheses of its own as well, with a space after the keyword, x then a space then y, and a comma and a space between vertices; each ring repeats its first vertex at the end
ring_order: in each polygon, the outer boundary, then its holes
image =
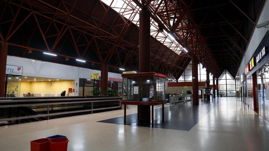
MULTIPOLYGON (((187 123, 195 117, 197 123, 187 131, 97 122, 122 117, 123 110, 2 126, 0 151, 29 151, 31 140, 55 134, 68 136, 68 151, 268 151, 269 123, 240 100, 235 97, 200 100, 201 108, 208 110, 200 110, 198 114, 191 103, 166 105, 167 109, 193 110, 169 121, 184 119, 187 123)), ((127 109, 128 115, 136 112, 135 106, 127 109)), ((171 113, 168 110, 166 114, 171 113)))

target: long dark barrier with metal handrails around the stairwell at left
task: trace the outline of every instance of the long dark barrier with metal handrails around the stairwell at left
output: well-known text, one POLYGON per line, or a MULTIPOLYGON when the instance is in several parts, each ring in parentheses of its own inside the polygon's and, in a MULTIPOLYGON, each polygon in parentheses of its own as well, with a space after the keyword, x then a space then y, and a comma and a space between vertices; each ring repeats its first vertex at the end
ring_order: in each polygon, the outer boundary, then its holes
POLYGON ((49 116, 89 111, 93 113, 96 110, 120 107, 121 97, 0 100, 0 111, 5 114, 0 118, 0 122, 39 117, 47 117, 48 120, 49 116), (24 116, 18 112, 24 113, 24 116))

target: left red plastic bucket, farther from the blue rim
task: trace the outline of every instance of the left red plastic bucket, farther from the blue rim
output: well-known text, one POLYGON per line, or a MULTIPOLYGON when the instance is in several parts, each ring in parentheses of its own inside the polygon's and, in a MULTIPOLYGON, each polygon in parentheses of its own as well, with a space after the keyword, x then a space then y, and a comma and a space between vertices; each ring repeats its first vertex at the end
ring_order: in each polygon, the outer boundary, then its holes
POLYGON ((50 144, 48 138, 41 138, 31 141, 31 151, 49 151, 50 144))

